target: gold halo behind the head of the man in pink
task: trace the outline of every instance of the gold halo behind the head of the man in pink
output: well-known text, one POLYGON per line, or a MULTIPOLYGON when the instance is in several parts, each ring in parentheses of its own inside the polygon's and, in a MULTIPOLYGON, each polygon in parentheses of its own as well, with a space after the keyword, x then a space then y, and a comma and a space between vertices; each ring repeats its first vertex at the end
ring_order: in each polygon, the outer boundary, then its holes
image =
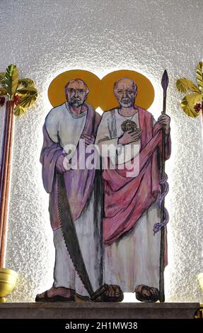
POLYGON ((149 79, 144 77, 144 75, 138 72, 129 71, 127 69, 111 72, 101 79, 99 94, 100 108, 103 111, 108 111, 118 106, 117 99, 115 98, 115 94, 113 92, 113 86, 115 81, 121 79, 122 77, 127 77, 135 81, 138 90, 135 101, 136 105, 147 110, 153 103, 154 99, 153 85, 149 79))

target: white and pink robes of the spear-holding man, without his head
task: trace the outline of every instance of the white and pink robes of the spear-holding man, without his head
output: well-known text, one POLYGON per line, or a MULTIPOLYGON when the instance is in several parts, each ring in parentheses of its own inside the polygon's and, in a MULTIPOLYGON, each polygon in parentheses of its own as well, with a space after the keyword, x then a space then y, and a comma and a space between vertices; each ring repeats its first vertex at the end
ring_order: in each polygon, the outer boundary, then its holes
MULTIPOLYGON (((104 283, 119 285, 123 292, 134 292, 144 284, 158 288, 160 232, 153 235, 153 225, 160 222, 158 197, 161 193, 161 142, 162 126, 153 115, 137 107, 130 120, 142 130, 141 138, 132 143, 136 149, 131 169, 119 165, 119 156, 110 154, 109 164, 115 169, 103 170, 105 193, 103 216, 104 283), (129 176, 137 164, 138 172, 129 176)), ((96 143, 114 145, 119 152, 118 139, 121 124, 126 120, 119 108, 103 113, 96 143)), ((125 145, 127 147, 128 145, 125 145)), ((170 157, 170 135, 166 136, 166 159, 170 157)), ((107 165, 107 162, 104 163, 107 165)), ((167 256, 165 256, 165 264, 167 256)))

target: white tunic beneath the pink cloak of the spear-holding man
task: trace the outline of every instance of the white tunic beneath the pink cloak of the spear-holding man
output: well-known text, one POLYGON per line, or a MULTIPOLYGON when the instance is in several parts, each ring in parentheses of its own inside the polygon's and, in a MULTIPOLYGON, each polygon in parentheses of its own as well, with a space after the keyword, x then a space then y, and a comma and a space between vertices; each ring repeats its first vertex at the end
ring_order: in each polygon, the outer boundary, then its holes
MULTIPOLYGON (((139 128, 138 113, 130 118, 139 128)), ((124 120, 127 118, 120 115, 117 109, 103 113, 96 137, 96 144, 100 149, 103 144, 119 148, 117 141, 123 133, 121 124, 124 120)), ((131 145, 136 145, 140 149, 140 141, 131 145)), ((137 154, 137 148, 135 152, 137 154)), ((112 155, 111 159, 113 161, 115 155, 112 155)), ((123 292, 128 293, 134 292, 139 284, 158 288, 160 232, 153 235, 153 225, 158 221, 160 221, 160 210, 158 204, 153 203, 132 230, 120 237, 117 242, 105 245, 104 283, 117 284, 123 292)))

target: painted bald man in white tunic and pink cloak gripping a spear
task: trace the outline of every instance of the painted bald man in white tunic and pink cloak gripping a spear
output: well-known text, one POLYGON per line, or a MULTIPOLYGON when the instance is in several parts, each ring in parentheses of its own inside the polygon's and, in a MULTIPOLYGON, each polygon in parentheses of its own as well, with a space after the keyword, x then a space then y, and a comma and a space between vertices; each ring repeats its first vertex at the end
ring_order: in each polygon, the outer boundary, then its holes
MULTIPOLYGON (((137 86, 131 79, 115 82, 114 92, 120 106, 103 113, 95 140, 103 157, 103 282, 136 291, 138 300, 156 301, 161 232, 154 235, 153 226, 160 221, 162 128, 168 159, 170 118, 163 114, 156 123, 135 106, 137 86)), ((116 293, 112 288, 108 295, 116 293)))

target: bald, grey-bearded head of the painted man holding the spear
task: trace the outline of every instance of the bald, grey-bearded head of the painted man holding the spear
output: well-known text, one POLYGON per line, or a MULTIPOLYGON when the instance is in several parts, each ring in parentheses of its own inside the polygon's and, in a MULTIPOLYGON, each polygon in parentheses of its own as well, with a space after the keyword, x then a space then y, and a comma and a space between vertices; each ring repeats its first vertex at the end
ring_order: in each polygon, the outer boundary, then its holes
POLYGON ((117 82, 115 86, 115 96, 122 108, 129 108, 134 106, 134 101, 137 95, 137 91, 134 90, 134 86, 131 80, 122 79, 117 82))

